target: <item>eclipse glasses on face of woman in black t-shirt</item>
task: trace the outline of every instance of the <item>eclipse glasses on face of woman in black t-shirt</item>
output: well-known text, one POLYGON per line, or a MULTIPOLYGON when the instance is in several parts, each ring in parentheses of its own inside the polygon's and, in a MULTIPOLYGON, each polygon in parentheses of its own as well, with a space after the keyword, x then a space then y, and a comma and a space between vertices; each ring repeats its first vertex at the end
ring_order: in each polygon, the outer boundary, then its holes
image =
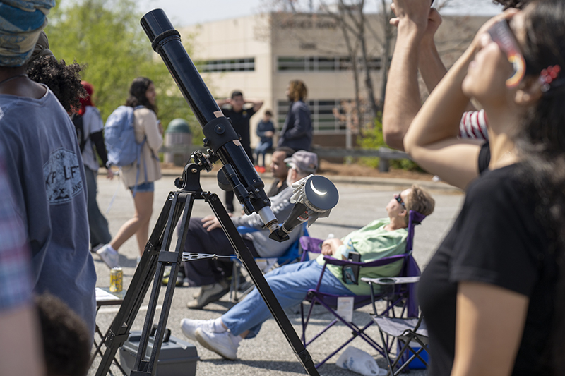
POLYGON ((525 59, 521 53, 521 47, 516 40, 507 20, 500 20, 489 28, 488 33, 492 42, 499 45, 501 51, 511 63, 513 72, 506 80, 506 87, 516 87, 525 75, 525 59))

